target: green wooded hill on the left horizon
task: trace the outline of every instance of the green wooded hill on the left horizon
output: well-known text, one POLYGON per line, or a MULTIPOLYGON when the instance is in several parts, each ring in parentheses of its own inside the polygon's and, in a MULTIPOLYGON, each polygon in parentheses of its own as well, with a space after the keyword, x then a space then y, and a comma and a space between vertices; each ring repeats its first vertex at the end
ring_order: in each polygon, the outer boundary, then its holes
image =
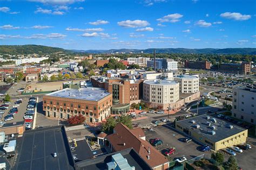
POLYGON ((50 54, 68 52, 63 48, 42 45, 1 45, 0 54, 50 54))

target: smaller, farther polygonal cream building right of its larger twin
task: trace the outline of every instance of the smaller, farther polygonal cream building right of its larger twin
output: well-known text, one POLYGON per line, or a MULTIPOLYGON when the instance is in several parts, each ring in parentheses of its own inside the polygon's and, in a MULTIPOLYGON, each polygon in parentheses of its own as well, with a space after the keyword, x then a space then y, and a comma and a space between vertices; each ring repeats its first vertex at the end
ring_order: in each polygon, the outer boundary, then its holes
POLYGON ((199 91, 199 78, 191 75, 177 75, 174 80, 179 82, 180 93, 197 93, 199 91))

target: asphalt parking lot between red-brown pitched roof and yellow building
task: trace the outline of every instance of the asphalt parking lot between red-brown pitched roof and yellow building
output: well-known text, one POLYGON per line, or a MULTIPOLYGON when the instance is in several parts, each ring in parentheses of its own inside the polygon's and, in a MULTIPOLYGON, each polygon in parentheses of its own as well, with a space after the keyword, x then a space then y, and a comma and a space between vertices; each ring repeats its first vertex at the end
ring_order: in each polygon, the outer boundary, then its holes
MULTIPOLYGON (((156 147, 161 153, 164 153, 166 151, 166 148, 174 147, 176 149, 176 152, 170 156, 171 159, 176 159, 178 157, 181 157, 182 155, 185 155, 187 160, 190 160, 194 157, 197 157, 198 155, 207 153, 197 150, 200 145, 194 143, 194 141, 190 141, 189 143, 184 143, 183 141, 180 141, 180 139, 184 138, 184 136, 170 129, 170 124, 157 126, 153 128, 153 130, 153 132, 149 130, 144 131, 146 134, 146 140, 149 141, 153 138, 160 138, 161 140, 163 140, 163 145, 159 145, 156 147)), ((211 154, 210 151, 208 151, 208 153, 211 154)))

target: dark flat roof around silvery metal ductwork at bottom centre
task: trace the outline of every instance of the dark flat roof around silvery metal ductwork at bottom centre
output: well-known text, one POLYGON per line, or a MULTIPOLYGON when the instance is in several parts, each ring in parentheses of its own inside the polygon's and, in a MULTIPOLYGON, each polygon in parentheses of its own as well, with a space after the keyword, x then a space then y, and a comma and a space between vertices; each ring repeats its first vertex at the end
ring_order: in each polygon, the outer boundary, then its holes
POLYGON ((139 156, 139 154, 133 150, 133 148, 127 148, 119 152, 113 152, 103 155, 101 157, 80 161, 76 163, 76 169, 91 170, 91 169, 107 169, 107 163, 112 161, 112 155, 120 153, 127 163, 136 170, 151 169, 151 167, 139 156))

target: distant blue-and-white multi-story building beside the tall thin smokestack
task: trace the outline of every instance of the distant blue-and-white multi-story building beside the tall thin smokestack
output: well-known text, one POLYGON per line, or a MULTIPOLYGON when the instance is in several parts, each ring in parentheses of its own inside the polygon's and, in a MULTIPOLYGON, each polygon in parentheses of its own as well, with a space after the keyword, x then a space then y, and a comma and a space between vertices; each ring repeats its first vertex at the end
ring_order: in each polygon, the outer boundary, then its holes
MULTIPOLYGON (((147 61, 147 67, 154 68, 154 60, 147 61)), ((173 59, 156 59, 156 69, 178 70, 178 61, 173 59)))

